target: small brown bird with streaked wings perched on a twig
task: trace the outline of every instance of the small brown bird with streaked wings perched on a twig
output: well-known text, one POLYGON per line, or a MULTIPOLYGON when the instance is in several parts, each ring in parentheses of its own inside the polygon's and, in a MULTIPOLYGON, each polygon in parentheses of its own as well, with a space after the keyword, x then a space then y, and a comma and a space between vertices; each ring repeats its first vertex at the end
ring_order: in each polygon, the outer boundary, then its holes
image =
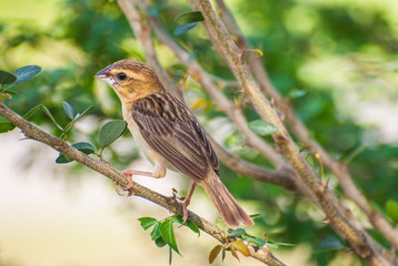
POLYGON ((229 227, 252 226, 253 221, 222 184, 217 155, 193 113, 161 84, 148 65, 120 60, 99 71, 96 79, 108 83, 119 96, 122 116, 136 143, 153 164, 153 172, 127 170, 129 178, 145 175, 166 176, 167 168, 191 180, 191 187, 181 203, 185 224, 188 205, 197 184, 205 188, 229 227))

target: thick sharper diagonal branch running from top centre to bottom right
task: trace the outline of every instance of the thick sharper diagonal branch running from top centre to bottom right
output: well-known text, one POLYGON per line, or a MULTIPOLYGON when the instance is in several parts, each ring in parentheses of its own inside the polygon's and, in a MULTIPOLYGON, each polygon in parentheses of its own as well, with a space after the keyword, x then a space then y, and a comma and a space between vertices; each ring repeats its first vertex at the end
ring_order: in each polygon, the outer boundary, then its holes
POLYGON ((315 171, 301 156, 298 147, 291 140, 283 123, 278 116, 276 108, 262 95, 253 76, 243 61, 243 51, 238 49, 227 32, 222 21, 217 16, 208 0, 189 0, 192 10, 200 10, 205 17, 203 27, 210 37, 216 50, 229 65, 235 76, 239 81, 243 92, 248 95, 257 113, 266 121, 278 127, 273 134, 276 144, 281 150, 285 157, 290 162, 297 175, 311 191, 318 203, 327 215, 329 223, 339 234, 347 239, 354 250, 369 265, 392 265, 388 262, 368 239, 366 232, 351 223, 338 207, 337 197, 322 184, 315 171))

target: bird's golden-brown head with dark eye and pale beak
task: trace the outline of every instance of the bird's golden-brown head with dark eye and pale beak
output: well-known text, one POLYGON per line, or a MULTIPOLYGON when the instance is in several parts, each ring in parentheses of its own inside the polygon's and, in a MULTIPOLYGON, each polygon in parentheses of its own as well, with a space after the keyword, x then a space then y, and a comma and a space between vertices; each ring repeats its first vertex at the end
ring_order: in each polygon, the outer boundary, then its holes
POLYGON ((136 101, 163 89, 153 70, 130 60, 108 65, 94 78, 111 85, 122 102, 136 101))

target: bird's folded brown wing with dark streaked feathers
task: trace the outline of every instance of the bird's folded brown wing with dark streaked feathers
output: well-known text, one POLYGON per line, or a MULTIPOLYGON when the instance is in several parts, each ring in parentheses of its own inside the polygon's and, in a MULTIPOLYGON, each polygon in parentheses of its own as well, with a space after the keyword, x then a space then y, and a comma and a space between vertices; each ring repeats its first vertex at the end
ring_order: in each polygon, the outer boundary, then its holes
POLYGON ((136 101, 132 119, 151 149, 197 182, 209 168, 219 175, 217 156, 189 110, 169 93, 156 93, 136 101))

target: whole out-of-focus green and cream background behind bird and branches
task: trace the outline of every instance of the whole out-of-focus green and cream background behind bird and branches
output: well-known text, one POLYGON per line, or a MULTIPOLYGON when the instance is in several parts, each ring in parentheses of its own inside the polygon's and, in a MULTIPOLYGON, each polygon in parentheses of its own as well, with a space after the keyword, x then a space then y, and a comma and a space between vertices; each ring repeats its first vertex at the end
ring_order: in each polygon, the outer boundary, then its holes
MULTIPOLYGON (((398 203, 398 1, 396 0, 230 0, 232 10, 251 45, 262 51, 276 88, 290 98, 312 137, 336 158, 350 158, 355 182, 371 203, 389 216, 398 203), (355 156, 351 156, 355 155, 355 156)), ((185 1, 152 1, 170 34, 175 18, 190 8, 185 1)), ((44 104, 62 124, 62 101, 77 111, 96 109, 70 133, 71 143, 88 141, 98 146, 100 125, 120 119, 118 99, 110 88, 92 76, 120 60, 145 62, 123 14, 115 1, 103 0, 0 0, 0 69, 12 72, 27 65, 42 68, 39 76, 19 84, 19 93, 6 103, 23 114, 44 104)), ((232 75, 216 55, 199 25, 175 37, 211 74, 232 75)), ((162 65, 178 82, 186 73, 161 44, 162 65)), ((219 112, 193 81, 185 92, 188 104, 205 127, 240 157, 269 166, 219 112)), ((226 86, 230 98, 237 88, 226 86)), ((248 120, 257 119, 246 110, 248 120)), ((47 131, 61 132, 44 113, 32 122, 47 131)), ((71 163, 57 165, 58 154, 32 141, 21 141, 18 130, 0 135, 0 265, 167 265, 168 249, 159 249, 138 217, 169 214, 141 198, 119 197, 113 184, 71 163)), ((150 170, 148 162, 126 133, 105 156, 117 168, 150 170)), ((321 223, 322 214, 306 200, 281 187, 239 177, 221 165, 223 182, 250 212, 260 212, 250 233, 296 244, 272 252, 288 265, 361 265, 336 233, 321 223)), ((330 187, 341 195, 334 177, 330 187)), ((162 180, 137 177, 138 182, 166 195, 171 187, 182 194, 188 180, 170 173, 162 180)), ((346 202, 351 206, 350 202, 346 202)), ((356 212, 355 206, 351 206, 356 212)), ((217 214, 198 190, 191 209, 216 221, 217 214)), ((396 209, 397 211, 397 209, 396 209)), ((397 211, 398 212, 398 211, 397 211)), ((366 224, 365 217, 361 219, 366 224)), ((370 233, 387 245, 381 236, 370 233)), ((217 245, 180 229, 177 242, 183 257, 173 265, 205 265, 217 245)), ((242 265, 259 265, 253 259, 242 265)), ((225 265, 238 265, 227 257, 225 265)), ((222 265, 217 259, 215 265, 222 265)))

